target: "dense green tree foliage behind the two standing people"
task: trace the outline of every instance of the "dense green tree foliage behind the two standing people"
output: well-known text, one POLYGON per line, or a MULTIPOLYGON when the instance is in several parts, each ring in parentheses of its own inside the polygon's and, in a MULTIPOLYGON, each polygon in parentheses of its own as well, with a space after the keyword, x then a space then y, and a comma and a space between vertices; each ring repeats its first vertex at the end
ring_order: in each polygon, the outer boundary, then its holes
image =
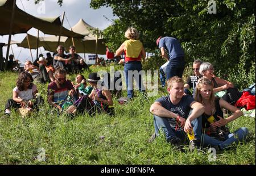
POLYGON ((211 62, 217 76, 246 87, 249 82, 241 80, 255 62, 255 1, 215 2, 216 14, 208 13, 208 1, 92 0, 90 6, 109 6, 119 17, 104 31, 113 50, 123 42, 129 26, 141 32, 147 52, 154 52, 158 36, 174 36, 183 46, 188 64, 196 59, 211 62), (230 74, 235 70, 239 70, 236 79, 230 74))

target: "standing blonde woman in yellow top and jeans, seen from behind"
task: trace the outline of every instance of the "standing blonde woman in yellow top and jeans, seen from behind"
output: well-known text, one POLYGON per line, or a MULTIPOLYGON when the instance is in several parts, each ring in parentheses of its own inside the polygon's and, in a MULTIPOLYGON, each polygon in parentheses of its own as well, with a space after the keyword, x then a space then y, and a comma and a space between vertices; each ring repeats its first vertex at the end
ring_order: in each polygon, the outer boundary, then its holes
POLYGON ((125 74, 126 74, 126 86, 127 86, 127 98, 133 98, 133 78, 137 85, 139 85, 139 91, 144 91, 142 84, 142 74, 134 75, 133 71, 140 72, 142 70, 141 59, 146 57, 143 45, 139 40, 139 32, 129 27, 125 32, 125 37, 128 39, 122 43, 122 45, 115 52, 115 56, 120 56, 125 53, 125 74), (129 72, 130 71, 130 72, 129 72), (129 74, 128 74, 129 73, 129 74))

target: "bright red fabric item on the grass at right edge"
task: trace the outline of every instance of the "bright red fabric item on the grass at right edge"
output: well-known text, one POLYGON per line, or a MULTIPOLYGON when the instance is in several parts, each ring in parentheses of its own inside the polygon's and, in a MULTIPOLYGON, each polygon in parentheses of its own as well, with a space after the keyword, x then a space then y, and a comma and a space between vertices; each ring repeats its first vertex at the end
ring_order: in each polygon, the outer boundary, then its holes
POLYGON ((235 106, 244 107, 246 111, 255 109, 255 95, 251 95, 249 91, 243 91, 235 106))

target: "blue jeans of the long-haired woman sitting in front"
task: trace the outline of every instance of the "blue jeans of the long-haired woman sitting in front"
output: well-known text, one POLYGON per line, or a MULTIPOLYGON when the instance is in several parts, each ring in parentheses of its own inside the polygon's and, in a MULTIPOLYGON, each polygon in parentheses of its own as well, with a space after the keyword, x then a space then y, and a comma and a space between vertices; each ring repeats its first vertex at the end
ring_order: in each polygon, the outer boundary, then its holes
POLYGON ((248 129, 245 127, 237 129, 237 131, 234 131, 233 133, 229 133, 229 135, 225 136, 225 141, 219 141, 217 139, 214 139, 213 137, 208 136, 207 134, 203 135, 203 143, 205 146, 212 145, 212 146, 220 146, 220 149, 225 149, 229 145, 232 145, 233 143, 238 144, 238 142, 242 142, 246 139, 246 136, 248 134, 248 129))

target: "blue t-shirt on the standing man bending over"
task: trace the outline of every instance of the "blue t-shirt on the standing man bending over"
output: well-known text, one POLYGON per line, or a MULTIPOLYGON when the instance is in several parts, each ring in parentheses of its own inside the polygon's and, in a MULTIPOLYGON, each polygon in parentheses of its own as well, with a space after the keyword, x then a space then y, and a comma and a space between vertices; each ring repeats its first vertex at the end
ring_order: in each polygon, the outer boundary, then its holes
POLYGON ((184 56, 184 51, 177 39, 174 37, 162 37, 159 40, 159 49, 164 47, 168 51, 169 60, 184 56))

